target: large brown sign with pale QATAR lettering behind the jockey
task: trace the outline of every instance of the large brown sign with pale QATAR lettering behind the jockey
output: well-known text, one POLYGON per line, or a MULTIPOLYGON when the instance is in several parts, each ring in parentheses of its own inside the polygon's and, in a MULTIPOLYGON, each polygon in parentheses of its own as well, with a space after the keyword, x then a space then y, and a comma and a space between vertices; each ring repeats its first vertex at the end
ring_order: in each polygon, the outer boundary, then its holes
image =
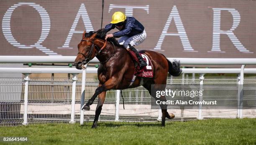
MULTIPOLYGON (((110 0, 105 2, 103 27, 113 12, 123 11, 145 27, 147 38, 139 50, 166 57, 254 58, 256 2, 227 1, 110 0)), ((75 56, 84 30, 97 31, 101 25, 99 2, 0 3, 0 55, 75 56)))

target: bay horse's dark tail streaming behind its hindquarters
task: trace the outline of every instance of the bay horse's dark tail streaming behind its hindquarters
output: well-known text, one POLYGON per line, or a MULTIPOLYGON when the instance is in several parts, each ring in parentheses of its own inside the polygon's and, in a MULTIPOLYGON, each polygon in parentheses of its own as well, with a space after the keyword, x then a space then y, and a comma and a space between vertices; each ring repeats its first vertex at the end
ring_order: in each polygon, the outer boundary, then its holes
MULTIPOLYGON (((162 54, 162 55, 164 56, 164 54, 162 54)), ((179 76, 180 74, 182 74, 182 69, 180 68, 180 62, 179 61, 174 59, 174 61, 171 62, 166 57, 165 57, 165 59, 168 62, 168 66, 169 66, 168 72, 169 72, 169 74, 171 74, 172 76, 179 76)))

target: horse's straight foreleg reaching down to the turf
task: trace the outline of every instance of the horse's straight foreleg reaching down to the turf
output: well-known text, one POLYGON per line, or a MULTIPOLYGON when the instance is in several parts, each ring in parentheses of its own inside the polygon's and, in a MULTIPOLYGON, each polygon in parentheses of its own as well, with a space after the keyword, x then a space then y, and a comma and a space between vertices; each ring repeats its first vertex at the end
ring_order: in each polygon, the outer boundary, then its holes
POLYGON ((102 106, 105 100, 105 95, 106 95, 106 91, 103 91, 102 93, 99 94, 98 96, 98 104, 97 104, 97 108, 95 111, 95 118, 93 121, 93 125, 92 128, 96 128, 97 127, 97 123, 98 123, 98 119, 102 110, 102 106))

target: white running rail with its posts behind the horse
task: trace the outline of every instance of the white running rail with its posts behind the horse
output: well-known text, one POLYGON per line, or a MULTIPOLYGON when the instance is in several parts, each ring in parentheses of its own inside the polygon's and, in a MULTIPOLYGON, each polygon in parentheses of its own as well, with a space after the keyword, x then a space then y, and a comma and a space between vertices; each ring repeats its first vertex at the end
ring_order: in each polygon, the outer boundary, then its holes
MULTIPOLYGON (((0 63, 73 63, 75 57, 49 57, 49 56, 0 56, 0 63), (15 59, 14 59, 15 58, 15 59)), ((181 64, 204 64, 204 65, 226 65, 226 64, 242 64, 241 69, 183 69, 184 73, 198 73, 200 74, 200 84, 204 82, 204 74, 207 73, 232 73, 238 75, 238 84, 243 85, 243 74, 256 74, 256 69, 244 69, 245 64, 256 64, 256 59, 198 59, 198 58, 168 58, 169 60, 177 59, 181 61, 181 64)), ((93 59, 92 62, 97 63, 97 59, 93 59)), ((75 115, 75 90, 77 82, 77 74, 82 73, 82 89, 81 89, 81 107, 84 103, 84 86, 86 84, 86 73, 97 73, 96 68, 87 68, 87 70, 77 70, 74 68, 0 68, 0 73, 22 73, 25 75, 25 92, 24 92, 24 117, 23 125, 27 122, 27 109, 28 109, 28 84, 29 74, 34 73, 70 73, 72 74, 72 108, 71 108, 71 120, 70 123, 74 123, 75 115)), ((243 88, 240 88, 241 90, 243 88)), ((238 90, 238 101, 242 101, 241 90, 238 90)), ((120 96, 120 91, 117 91, 117 96, 120 96)), ((200 98, 202 99, 202 98, 200 98)), ((116 99, 116 104, 119 104, 119 97, 116 99)), ((239 102, 238 102, 239 103, 239 102)), ((199 106, 198 119, 202 117, 202 106, 199 106)), ((119 105, 116 105, 115 120, 119 118, 119 105)), ((238 109, 238 118, 243 118, 242 109, 238 109)), ((161 110, 159 110, 161 112, 161 110)), ((161 118, 161 113, 159 117, 161 118)), ((84 123, 84 111, 80 112, 80 124, 84 123)))

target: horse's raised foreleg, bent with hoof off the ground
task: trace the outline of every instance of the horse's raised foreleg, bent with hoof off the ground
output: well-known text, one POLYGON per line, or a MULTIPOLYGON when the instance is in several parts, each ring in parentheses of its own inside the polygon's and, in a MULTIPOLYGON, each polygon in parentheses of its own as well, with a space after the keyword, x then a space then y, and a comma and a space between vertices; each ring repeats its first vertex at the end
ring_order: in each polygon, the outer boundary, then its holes
POLYGON ((92 96, 92 98, 90 98, 88 100, 88 102, 82 107, 82 110, 90 110, 90 105, 92 105, 92 103, 94 102, 95 98, 103 91, 108 91, 112 88, 114 88, 117 84, 118 84, 118 80, 115 79, 114 77, 111 79, 108 79, 108 81, 106 81, 102 86, 99 86, 98 88, 96 88, 94 95, 92 96))

